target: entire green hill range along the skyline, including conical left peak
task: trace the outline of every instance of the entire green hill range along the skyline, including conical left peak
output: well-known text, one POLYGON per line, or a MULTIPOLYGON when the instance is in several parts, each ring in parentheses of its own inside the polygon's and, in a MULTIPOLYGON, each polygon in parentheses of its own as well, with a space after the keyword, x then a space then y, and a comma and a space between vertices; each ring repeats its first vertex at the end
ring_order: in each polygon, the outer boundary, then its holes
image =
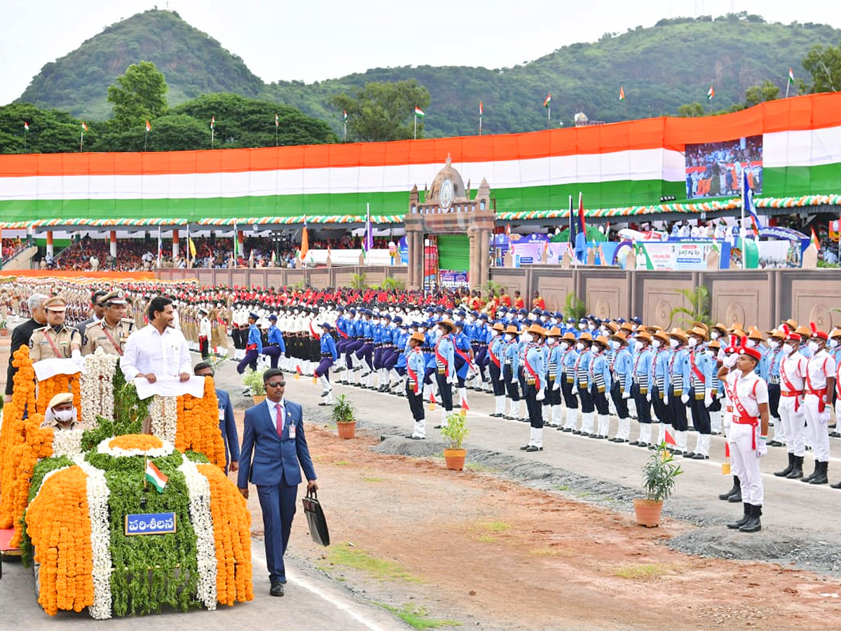
MULTIPOLYGON (((563 34, 558 31, 558 39, 563 34)), ((605 34, 598 42, 559 48, 511 68, 418 66, 375 68, 324 82, 264 84, 241 59, 177 13, 139 13, 49 63, 19 101, 104 119, 114 77, 137 61, 154 61, 169 86, 171 106, 207 93, 238 93, 285 103, 341 129, 331 97, 372 81, 415 79, 431 93, 426 136, 473 135, 484 102, 484 133, 545 129, 547 93, 553 126, 572 123, 576 112, 616 121, 677 114, 701 102, 712 84, 714 109, 742 103, 745 90, 770 79, 785 93, 789 67, 809 80, 801 61, 812 45, 838 45, 841 30, 823 24, 766 24, 758 16, 664 19, 656 26, 605 34), (619 87, 626 100, 619 101, 619 87)), ((493 41, 489 42, 493 45, 493 41)))

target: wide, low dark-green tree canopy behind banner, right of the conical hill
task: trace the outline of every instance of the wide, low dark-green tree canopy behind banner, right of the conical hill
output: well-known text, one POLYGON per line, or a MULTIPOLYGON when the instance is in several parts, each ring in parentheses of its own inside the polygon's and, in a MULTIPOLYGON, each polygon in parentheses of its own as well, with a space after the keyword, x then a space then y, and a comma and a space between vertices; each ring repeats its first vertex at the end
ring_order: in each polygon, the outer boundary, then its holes
POLYGON ((310 118, 298 109, 238 94, 205 94, 182 103, 172 114, 187 114, 204 125, 210 145, 210 117, 214 116, 215 144, 220 148, 323 145, 339 139, 324 121, 310 118), (275 126, 275 116, 278 125, 275 126))

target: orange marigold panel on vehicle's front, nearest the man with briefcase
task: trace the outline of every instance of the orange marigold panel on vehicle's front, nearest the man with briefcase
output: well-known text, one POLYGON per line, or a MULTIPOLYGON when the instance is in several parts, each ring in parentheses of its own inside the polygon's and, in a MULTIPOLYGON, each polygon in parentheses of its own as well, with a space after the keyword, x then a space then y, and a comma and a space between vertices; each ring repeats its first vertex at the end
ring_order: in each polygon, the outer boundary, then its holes
POLYGON ((251 584, 251 513, 245 498, 213 464, 196 464, 210 483, 216 541, 216 598, 224 605, 254 598, 251 584))

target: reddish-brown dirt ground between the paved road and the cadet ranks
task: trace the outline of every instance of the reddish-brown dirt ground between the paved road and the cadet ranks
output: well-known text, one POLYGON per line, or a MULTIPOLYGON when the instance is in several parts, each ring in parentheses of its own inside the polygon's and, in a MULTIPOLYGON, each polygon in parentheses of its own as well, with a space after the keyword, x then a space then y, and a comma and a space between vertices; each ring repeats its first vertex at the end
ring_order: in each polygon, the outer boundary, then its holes
POLYGON ((448 471, 442 459, 375 453, 378 436, 307 431, 333 545, 314 548, 297 523, 290 554, 374 602, 482 629, 830 628, 841 613, 828 577, 662 545, 693 528, 685 522, 642 528, 488 472, 448 471), (331 563, 336 546, 394 565, 331 563))

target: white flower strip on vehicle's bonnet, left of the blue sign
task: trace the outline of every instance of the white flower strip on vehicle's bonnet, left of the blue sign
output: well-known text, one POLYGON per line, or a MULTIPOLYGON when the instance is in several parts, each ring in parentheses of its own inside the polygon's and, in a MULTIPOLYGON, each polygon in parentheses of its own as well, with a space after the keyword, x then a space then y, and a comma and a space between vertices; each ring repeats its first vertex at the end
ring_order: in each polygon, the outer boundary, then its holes
POLYGON ((94 620, 111 618, 111 529, 108 523, 108 482, 105 473, 83 456, 73 459, 87 474, 87 512, 91 520, 93 556, 93 605, 87 611, 94 620))

